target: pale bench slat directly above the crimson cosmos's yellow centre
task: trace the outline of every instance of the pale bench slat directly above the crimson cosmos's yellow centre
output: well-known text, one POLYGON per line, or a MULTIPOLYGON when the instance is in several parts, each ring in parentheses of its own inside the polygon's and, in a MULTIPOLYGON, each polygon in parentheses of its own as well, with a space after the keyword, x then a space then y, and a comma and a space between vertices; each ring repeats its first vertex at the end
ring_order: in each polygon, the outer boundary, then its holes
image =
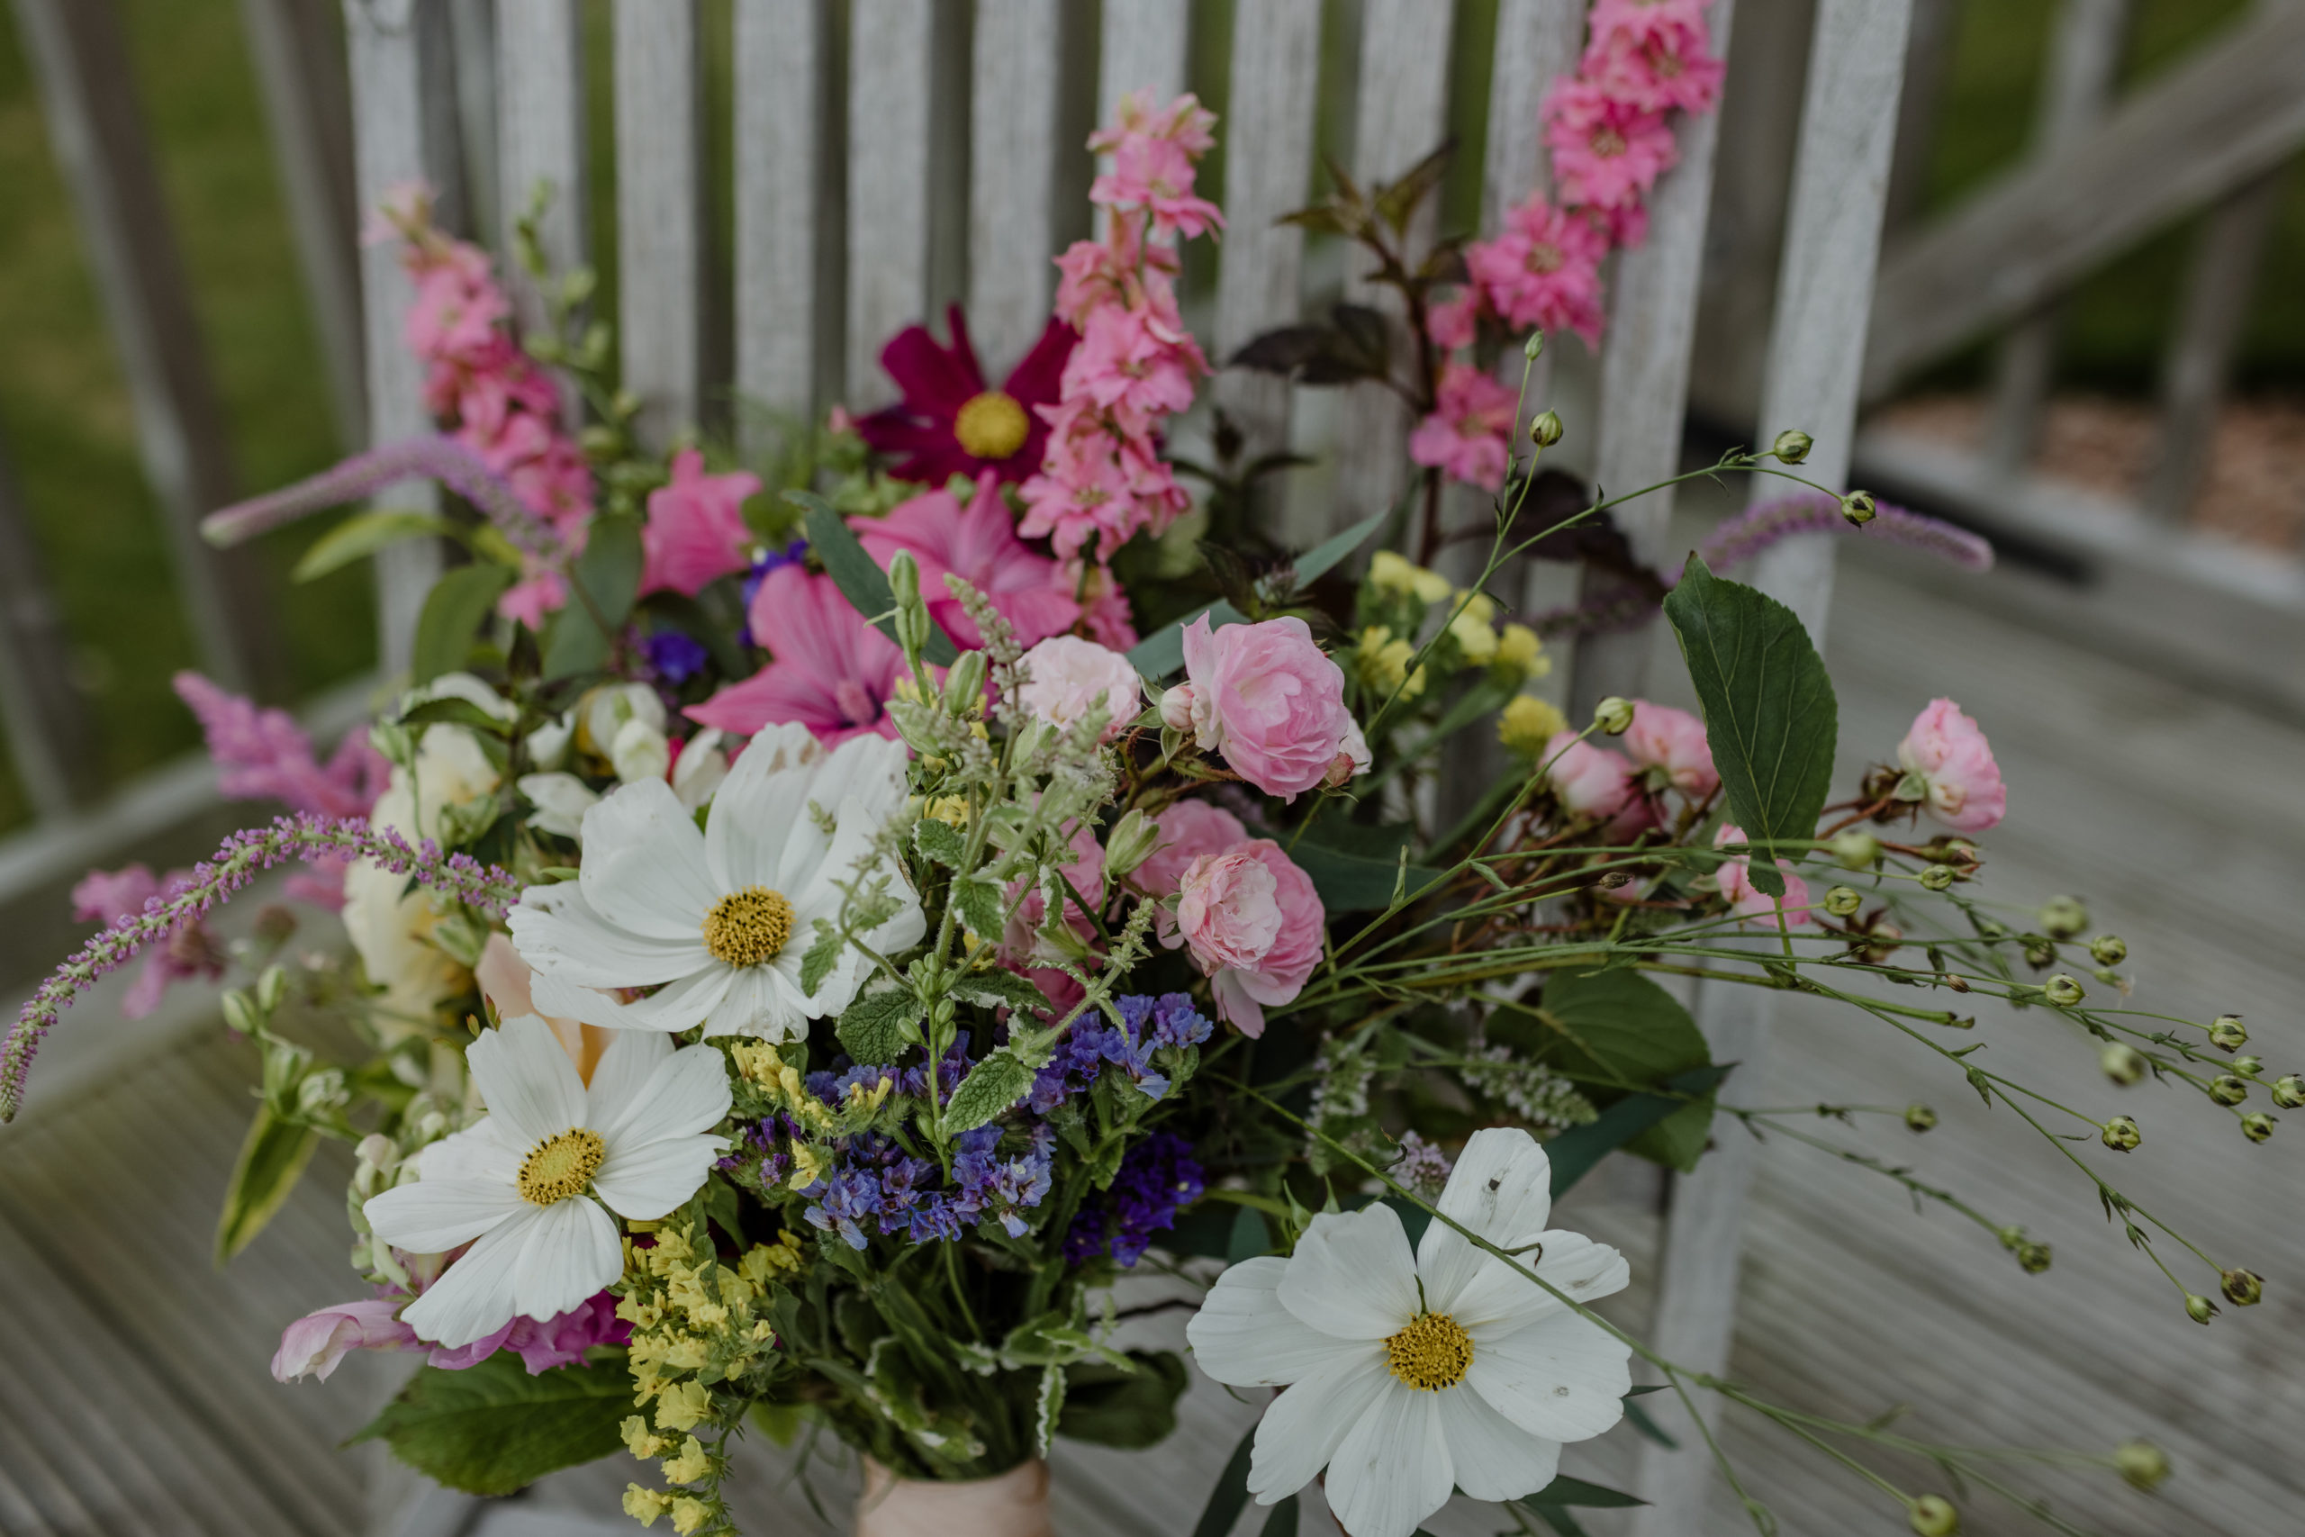
POLYGON ((1058 0, 977 0, 968 334, 993 383, 1049 325, 1058 35, 1058 0))

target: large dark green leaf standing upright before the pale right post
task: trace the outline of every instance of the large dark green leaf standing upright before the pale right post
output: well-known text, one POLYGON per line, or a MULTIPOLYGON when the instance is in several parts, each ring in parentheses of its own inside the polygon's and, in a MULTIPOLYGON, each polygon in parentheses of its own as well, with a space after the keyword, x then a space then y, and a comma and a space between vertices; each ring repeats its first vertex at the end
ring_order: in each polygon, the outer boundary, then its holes
MULTIPOLYGON (((1717 578, 1696 555, 1667 595, 1664 618, 1706 712, 1729 816, 1747 839, 1812 839, 1832 783, 1839 707, 1809 631, 1791 608, 1717 578)), ((1766 857, 1752 862, 1752 883, 1784 894, 1784 873, 1766 857)))

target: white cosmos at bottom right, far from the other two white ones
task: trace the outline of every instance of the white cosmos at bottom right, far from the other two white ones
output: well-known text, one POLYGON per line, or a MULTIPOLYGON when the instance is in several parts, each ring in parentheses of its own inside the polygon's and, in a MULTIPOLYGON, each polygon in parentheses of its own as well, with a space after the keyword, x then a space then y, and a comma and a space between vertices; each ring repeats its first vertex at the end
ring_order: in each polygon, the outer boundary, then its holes
MULTIPOLYGON (((1526 1131, 1466 1143, 1436 1201, 1586 1302, 1627 1281, 1625 1258, 1549 1233, 1551 1166, 1526 1131)), ((1233 1387, 1291 1385, 1256 1426, 1249 1491, 1272 1505, 1328 1466, 1351 1537, 1408 1537, 1450 1489, 1517 1500, 1554 1479, 1560 1443, 1625 1413, 1632 1350, 1524 1270, 1434 1219, 1415 1254, 1388 1205, 1323 1212, 1288 1258, 1233 1265, 1185 1330, 1233 1387)))

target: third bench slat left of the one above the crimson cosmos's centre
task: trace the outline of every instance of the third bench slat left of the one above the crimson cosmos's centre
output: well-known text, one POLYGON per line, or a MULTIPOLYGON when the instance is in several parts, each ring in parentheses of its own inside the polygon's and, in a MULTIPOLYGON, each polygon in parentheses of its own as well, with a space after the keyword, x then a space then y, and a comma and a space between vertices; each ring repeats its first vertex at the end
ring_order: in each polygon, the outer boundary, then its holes
POLYGON ((698 0, 615 0, 615 240, 622 383, 664 447, 703 412, 698 0))

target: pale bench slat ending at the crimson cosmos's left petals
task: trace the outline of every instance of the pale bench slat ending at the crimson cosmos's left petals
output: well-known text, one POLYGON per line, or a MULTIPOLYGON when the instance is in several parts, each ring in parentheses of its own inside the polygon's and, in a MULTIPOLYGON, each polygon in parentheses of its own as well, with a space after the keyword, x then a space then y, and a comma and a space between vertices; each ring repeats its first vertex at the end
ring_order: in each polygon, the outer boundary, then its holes
POLYGON ((929 309, 929 0, 855 0, 848 12, 848 380, 851 410, 897 396, 881 348, 929 309))

